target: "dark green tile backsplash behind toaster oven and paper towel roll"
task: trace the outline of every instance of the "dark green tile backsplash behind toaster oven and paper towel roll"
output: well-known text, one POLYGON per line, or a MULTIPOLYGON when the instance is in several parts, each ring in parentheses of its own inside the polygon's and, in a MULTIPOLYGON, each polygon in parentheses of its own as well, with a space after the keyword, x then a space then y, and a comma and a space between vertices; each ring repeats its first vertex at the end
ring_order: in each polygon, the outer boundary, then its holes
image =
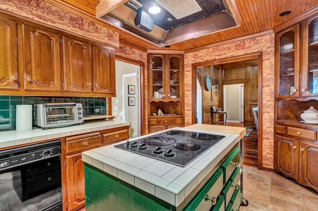
POLYGON ((0 131, 15 129, 16 105, 32 105, 32 122, 34 122, 35 104, 43 103, 81 103, 86 115, 106 114, 106 98, 86 97, 34 97, 34 96, 0 96, 0 131))

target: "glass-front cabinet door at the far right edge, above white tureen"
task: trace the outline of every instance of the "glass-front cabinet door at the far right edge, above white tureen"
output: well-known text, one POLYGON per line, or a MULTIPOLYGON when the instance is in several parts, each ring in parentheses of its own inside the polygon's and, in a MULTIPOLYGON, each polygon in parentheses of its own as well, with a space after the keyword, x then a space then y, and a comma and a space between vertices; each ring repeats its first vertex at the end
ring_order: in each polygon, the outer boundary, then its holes
POLYGON ((304 22, 303 68, 307 77, 303 96, 318 96, 318 17, 304 22))

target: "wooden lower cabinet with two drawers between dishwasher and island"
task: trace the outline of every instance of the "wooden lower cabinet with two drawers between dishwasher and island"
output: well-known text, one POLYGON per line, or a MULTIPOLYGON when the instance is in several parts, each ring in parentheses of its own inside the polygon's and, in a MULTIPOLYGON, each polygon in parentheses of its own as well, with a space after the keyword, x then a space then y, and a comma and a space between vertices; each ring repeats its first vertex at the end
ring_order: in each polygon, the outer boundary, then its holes
POLYGON ((129 126, 66 137, 62 146, 62 155, 65 155, 62 159, 65 167, 62 170, 62 178, 65 178, 62 187, 66 188, 63 189, 64 210, 76 211, 85 206, 84 164, 81 153, 127 139, 129 126))

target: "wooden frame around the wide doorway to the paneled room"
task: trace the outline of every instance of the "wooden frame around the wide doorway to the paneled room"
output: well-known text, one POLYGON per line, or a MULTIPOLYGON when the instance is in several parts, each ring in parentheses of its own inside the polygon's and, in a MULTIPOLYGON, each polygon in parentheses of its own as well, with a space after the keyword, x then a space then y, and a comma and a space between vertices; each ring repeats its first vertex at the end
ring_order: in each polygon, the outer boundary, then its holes
MULTIPOLYGON (((229 57, 229 58, 221 58, 217 60, 209 60, 209 61, 204 61, 204 62, 199 62, 199 63, 193 63, 192 64, 192 124, 196 123, 196 86, 197 86, 197 81, 196 81, 196 75, 197 75, 197 67, 200 66, 208 66, 208 65, 220 65, 220 64, 228 64, 228 63, 234 63, 234 62, 239 62, 239 61, 244 61, 244 60, 250 60, 250 59, 258 59, 258 87, 262 87, 262 69, 263 69, 263 53, 262 52, 255 52, 255 53, 249 53, 249 54, 244 54, 244 55, 239 55, 239 56, 234 56, 234 57, 229 57)), ((223 80, 223 79, 222 79, 223 80)), ((258 89, 258 149, 257 149, 257 168, 262 169, 263 167, 263 151, 262 151, 262 89, 258 89)))

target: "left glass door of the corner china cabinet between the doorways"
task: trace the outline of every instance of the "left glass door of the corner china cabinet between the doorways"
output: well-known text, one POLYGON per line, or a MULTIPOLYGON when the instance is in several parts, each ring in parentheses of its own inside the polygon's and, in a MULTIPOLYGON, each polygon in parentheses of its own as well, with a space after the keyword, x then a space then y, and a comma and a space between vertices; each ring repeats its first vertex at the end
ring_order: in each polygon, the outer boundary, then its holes
POLYGON ((150 57, 150 99, 165 99, 165 75, 164 75, 164 55, 152 55, 150 57))

